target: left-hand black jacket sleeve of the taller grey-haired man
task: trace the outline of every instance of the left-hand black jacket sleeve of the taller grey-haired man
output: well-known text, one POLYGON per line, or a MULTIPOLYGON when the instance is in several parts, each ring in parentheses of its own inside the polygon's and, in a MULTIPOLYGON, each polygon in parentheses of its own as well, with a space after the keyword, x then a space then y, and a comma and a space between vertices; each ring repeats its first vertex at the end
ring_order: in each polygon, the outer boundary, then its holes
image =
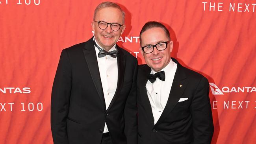
POLYGON ((51 129, 54 144, 68 144, 67 114, 71 91, 71 64, 64 49, 54 78, 51 98, 51 129))

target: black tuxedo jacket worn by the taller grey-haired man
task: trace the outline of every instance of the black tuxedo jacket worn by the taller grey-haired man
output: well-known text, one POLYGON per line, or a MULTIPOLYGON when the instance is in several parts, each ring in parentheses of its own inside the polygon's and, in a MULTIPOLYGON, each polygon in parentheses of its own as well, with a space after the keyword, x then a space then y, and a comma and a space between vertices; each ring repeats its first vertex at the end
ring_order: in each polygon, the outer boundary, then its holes
POLYGON ((137 59, 117 50, 117 89, 108 109, 93 38, 61 52, 51 100, 54 144, 100 144, 105 122, 113 144, 137 143, 137 59))

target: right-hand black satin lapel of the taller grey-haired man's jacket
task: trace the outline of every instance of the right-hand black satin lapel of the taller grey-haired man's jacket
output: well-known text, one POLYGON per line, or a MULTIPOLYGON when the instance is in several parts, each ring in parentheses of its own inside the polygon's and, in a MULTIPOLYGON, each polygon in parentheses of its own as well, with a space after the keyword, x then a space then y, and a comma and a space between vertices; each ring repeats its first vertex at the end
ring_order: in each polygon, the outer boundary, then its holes
POLYGON ((119 46, 117 46, 117 68, 118 68, 118 74, 117 74, 117 89, 115 90, 115 94, 113 96, 113 99, 111 100, 109 107, 107 109, 107 112, 109 109, 113 106, 115 103, 115 100, 118 97, 118 94, 122 88, 123 82, 124 82, 124 69, 125 69, 125 63, 126 63, 126 55, 120 50, 119 46))

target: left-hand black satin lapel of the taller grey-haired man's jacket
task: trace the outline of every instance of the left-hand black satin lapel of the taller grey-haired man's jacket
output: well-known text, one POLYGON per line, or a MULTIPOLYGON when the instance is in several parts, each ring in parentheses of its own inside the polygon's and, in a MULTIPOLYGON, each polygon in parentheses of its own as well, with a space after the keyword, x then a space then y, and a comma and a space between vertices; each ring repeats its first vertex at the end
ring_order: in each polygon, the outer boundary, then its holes
POLYGON ((98 69, 98 61, 95 54, 95 47, 93 45, 93 38, 91 38, 89 41, 86 42, 85 47, 83 48, 83 54, 85 57, 85 61, 88 65, 91 77, 93 79, 93 83, 98 92, 98 96, 106 109, 102 84, 100 80, 100 71, 98 69))

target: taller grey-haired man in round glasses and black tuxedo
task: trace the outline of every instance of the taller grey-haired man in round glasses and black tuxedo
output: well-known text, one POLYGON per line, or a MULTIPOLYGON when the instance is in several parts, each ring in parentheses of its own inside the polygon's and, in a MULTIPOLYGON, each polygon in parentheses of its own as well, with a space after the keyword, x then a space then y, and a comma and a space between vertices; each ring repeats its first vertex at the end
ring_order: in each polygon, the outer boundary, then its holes
POLYGON ((51 100, 54 144, 137 144, 137 59, 116 42, 124 11, 103 2, 95 36, 61 52, 51 100))

